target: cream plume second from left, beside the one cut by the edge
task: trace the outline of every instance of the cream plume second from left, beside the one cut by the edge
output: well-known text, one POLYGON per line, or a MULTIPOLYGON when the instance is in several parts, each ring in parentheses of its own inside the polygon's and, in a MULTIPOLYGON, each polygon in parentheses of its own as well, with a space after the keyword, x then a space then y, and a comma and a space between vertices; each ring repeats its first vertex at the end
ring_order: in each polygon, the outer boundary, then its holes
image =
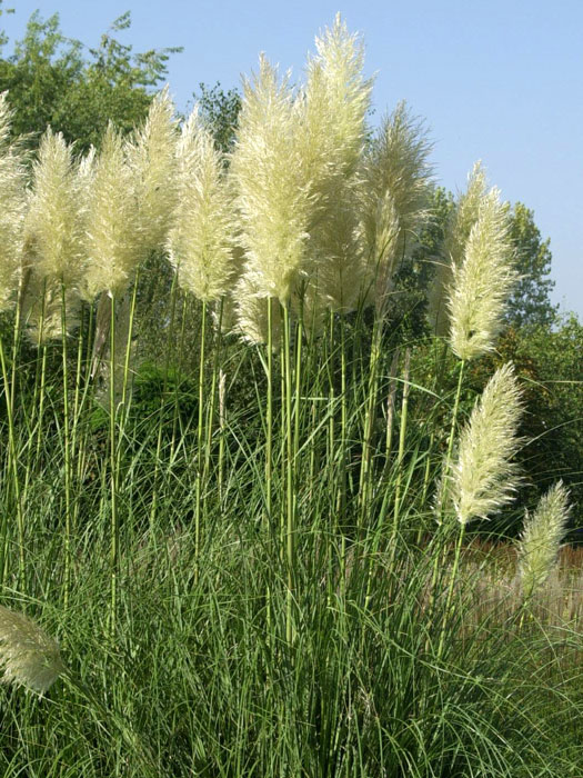
POLYGON ((32 192, 24 222, 27 261, 39 279, 66 287, 79 282, 82 200, 72 147, 60 132, 43 134, 32 169, 32 192))

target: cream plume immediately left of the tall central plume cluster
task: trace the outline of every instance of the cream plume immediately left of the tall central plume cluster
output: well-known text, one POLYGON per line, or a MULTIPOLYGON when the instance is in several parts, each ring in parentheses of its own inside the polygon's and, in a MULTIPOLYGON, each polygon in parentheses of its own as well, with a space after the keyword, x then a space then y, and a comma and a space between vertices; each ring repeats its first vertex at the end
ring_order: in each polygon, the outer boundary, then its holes
POLYGON ((178 203, 168 238, 180 286, 204 301, 227 293, 233 276, 233 213, 223 159, 197 110, 178 146, 178 203))

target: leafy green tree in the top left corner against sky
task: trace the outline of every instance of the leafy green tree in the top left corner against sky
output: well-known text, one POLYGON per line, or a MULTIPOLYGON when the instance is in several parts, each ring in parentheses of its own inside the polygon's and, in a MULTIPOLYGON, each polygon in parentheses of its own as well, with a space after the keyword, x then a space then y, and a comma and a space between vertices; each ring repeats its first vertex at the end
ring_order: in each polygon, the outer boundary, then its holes
MULTIPOLYGON (((87 49, 63 36, 59 14, 42 19, 36 11, 13 53, 0 58, 0 91, 9 91, 16 110, 13 132, 38 136, 51 124, 82 151, 99 144, 110 120, 123 131, 142 121, 170 54, 180 49, 133 53, 114 37, 130 24, 127 12, 87 49)), ((0 44, 7 42, 4 33, 0 44)))

